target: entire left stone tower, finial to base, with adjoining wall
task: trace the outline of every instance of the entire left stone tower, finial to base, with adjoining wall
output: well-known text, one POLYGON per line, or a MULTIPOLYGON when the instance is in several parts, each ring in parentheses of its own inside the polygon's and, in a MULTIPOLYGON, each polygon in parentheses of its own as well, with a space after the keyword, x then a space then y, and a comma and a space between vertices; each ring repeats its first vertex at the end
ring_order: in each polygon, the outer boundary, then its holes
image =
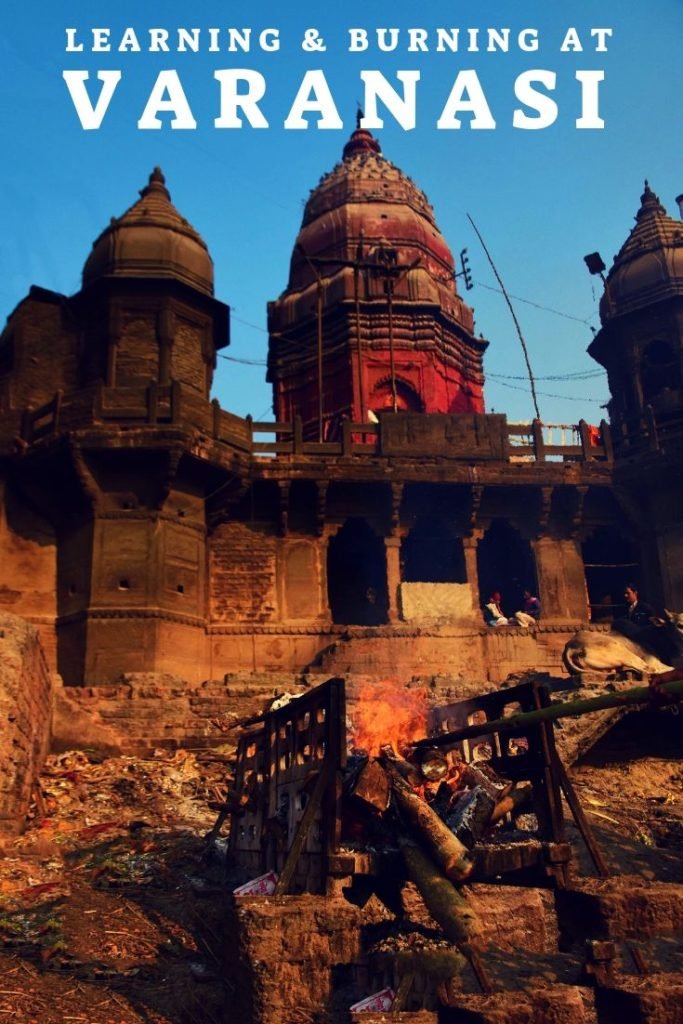
POLYGON ((0 411, 7 436, 19 418, 24 457, 4 484, 6 564, 15 581, 27 566, 15 610, 68 683, 201 656, 204 498, 225 474, 198 457, 198 433, 227 335, 207 247, 158 168, 95 241, 82 289, 34 288, 9 317, 0 411))

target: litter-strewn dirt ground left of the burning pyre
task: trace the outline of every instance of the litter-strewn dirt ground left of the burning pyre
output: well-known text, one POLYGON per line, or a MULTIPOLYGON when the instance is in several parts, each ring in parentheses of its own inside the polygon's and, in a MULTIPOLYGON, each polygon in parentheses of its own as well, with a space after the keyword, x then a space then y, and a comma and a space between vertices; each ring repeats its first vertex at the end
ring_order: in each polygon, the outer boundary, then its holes
POLYGON ((220 1019, 224 925, 193 882, 230 752, 48 758, 0 848, 0 1020, 220 1019))

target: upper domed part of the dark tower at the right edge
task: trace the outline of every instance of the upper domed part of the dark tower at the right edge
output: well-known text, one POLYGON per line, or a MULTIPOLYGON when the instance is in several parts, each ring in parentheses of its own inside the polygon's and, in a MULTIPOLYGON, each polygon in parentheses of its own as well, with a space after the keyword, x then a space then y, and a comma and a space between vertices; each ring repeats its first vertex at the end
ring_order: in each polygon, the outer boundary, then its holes
POLYGON ((647 181, 607 275, 600 318, 589 352, 607 371, 617 450, 642 446, 683 414, 683 223, 647 181))

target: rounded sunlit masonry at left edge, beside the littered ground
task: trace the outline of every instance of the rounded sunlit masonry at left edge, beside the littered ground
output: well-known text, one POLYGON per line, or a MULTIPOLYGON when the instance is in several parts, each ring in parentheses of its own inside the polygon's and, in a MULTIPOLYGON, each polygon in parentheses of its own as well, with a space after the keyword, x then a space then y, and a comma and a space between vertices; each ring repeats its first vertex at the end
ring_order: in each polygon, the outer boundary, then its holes
POLYGON ((48 751, 52 677, 38 632, 0 614, 0 831, 19 831, 48 751))

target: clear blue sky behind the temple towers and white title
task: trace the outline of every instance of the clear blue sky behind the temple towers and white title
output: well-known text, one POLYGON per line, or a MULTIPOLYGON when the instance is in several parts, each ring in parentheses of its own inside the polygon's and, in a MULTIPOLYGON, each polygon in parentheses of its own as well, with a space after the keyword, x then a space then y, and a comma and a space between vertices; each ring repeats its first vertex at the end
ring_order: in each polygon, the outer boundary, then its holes
MULTIPOLYGON (((375 132, 385 156, 426 191, 454 252, 468 247, 476 283, 467 295, 477 331, 489 339, 485 357, 487 409, 510 420, 532 416, 524 362, 513 323, 485 256, 467 219, 471 214, 513 301, 538 378, 542 418, 574 423, 598 420, 607 399, 603 376, 586 354, 598 326, 600 282, 583 256, 598 250, 609 265, 633 225, 647 177, 673 216, 683 191, 681 99, 682 0, 653 0, 647 8, 624 0, 563 4, 479 2, 436 4, 378 2, 311 5, 236 0, 193 5, 122 0, 38 3, 27 0, 3 22, 0 36, 0 127, 5 140, 0 170, 0 318, 32 284, 73 294, 92 242, 112 216, 137 198, 161 165, 182 214, 203 234, 216 267, 216 295, 232 308, 232 343, 219 359, 215 395, 239 415, 270 417, 265 384, 266 302, 287 284, 289 258, 309 190, 340 159, 362 101, 362 69, 377 69, 398 84, 398 70, 420 72, 417 126, 402 130, 390 115, 375 132), (66 29, 78 30, 82 53, 67 53, 66 29), (92 28, 112 30, 113 52, 89 52, 92 28), (280 30, 281 48, 249 53, 119 53, 133 27, 143 46, 146 30, 163 27, 251 27, 280 30), (398 49, 348 50, 348 29, 399 28, 398 49), (408 52, 405 30, 437 27, 508 27, 508 53, 408 52), (569 27, 582 53, 560 52, 569 27), (591 28, 611 28, 606 52, 596 53, 591 28), (301 48, 315 28, 324 52, 301 48), (537 52, 514 44, 521 29, 539 34, 537 52), (214 128, 220 68, 259 71, 266 80, 261 102, 266 129, 214 128), (62 71, 117 69, 121 82, 96 131, 83 131, 62 81, 62 71), (158 73, 177 70, 195 131, 140 131, 137 120, 158 73), (284 120, 307 70, 322 69, 344 121, 342 130, 286 130, 284 120), (493 131, 473 131, 463 115, 459 131, 439 131, 437 118, 457 73, 477 72, 492 113, 493 131), (512 127, 519 102, 516 77, 529 69, 557 75, 558 117, 549 128, 512 127), (602 130, 578 130, 577 70, 604 70, 600 86, 602 130), (546 307, 546 308, 542 308, 546 307), (554 310, 554 311, 551 311, 554 310), (246 360, 246 361, 234 361, 246 360), (579 375, 579 376, 570 376, 579 375), (560 379, 553 379, 560 378, 560 379)), ((224 37, 223 37, 224 38, 224 37)), ((464 39, 463 42, 466 42, 464 39)))

